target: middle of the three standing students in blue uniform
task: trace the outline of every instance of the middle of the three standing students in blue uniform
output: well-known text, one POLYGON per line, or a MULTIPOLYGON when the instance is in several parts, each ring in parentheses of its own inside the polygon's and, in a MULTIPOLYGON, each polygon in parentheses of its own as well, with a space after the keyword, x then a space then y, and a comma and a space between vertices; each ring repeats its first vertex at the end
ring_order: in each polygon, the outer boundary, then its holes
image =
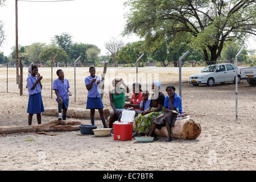
POLYGON ((57 96, 56 101, 58 103, 58 111, 59 117, 58 119, 66 120, 68 104, 69 104, 69 96, 72 96, 71 92, 69 92, 69 82, 66 78, 64 78, 64 72, 61 69, 58 69, 56 72, 57 78, 53 81, 52 89, 55 90, 55 94, 57 96), (61 109, 63 109, 63 116, 61 115, 61 109))

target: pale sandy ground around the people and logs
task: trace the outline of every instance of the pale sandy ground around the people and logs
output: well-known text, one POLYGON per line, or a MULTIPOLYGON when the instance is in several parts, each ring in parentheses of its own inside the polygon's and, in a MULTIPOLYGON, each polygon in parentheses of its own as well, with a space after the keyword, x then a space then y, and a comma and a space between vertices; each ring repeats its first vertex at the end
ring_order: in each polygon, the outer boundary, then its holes
MULTIPOLYGON (((0 170, 255 170, 256 88, 250 87, 245 80, 239 84, 239 117, 236 121, 234 84, 217 84, 212 88, 189 85, 188 76, 200 69, 186 68, 183 71, 183 108, 202 129, 196 140, 174 139, 167 143, 165 138, 159 137, 152 143, 138 143, 134 139, 122 142, 113 137, 81 135, 80 131, 50 132, 57 134, 53 137, 36 133, 0 135, 0 170)), ((53 79, 56 70, 53 68, 53 79)), ((73 68, 63 70, 74 94, 73 68)), ((85 109, 84 78, 89 75, 88 68, 77 68, 76 71, 77 101, 72 96, 69 107, 85 109)), ((113 71, 108 69, 109 77, 113 71)), ((158 73, 165 95, 169 84, 175 85, 179 93, 177 69, 139 69, 139 73, 145 75, 153 71, 158 73)), ((43 75, 44 107, 57 107, 54 93, 51 98, 51 69, 39 68, 39 72, 43 75)), ((97 68, 96 72, 100 75, 102 68, 97 68)), ((25 73, 27 69, 24 69, 25 73)), ((115 73, 125 74, 117 76, 125 78, 129 73, 135 76, 135 69, 117 69, 115 73)), ((28 92, 25 86, 26 82, 23 84, 24 94, 19 96, 15 69, 10 68, 9 93, 6 93, 6 69, 0 68, 0 126, 27 125, 28 92)), ((108 93, 104 94, 103 101, 105 108, 110 109, 108 93)), ((53 119, 55 117, 44 116, 42 122, 53 119)), ((68 120, 90 124, 86 119, 68 120)), ((35 116, 32 124, 36 125, 35 116)), ((96 121, 96 125, 102 127, 101 121, 96 121)))

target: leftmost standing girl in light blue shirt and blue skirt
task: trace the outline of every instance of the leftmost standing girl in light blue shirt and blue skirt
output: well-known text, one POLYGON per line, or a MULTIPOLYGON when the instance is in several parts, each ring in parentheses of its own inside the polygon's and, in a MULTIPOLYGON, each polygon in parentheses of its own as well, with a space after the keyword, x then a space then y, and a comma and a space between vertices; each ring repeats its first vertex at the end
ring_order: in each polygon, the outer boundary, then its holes
POLYGON ((28 125, 32 125, 33 114, 36 114, 38 125, 41 124, 41 112, 44 112, 44 105, 42 100, 42 84, 43 76, 38 73, 38 67, 33 65, 31 67, 31 75, 27 77, 27 89, 30 95, 28 99, 27 113, 28 125))

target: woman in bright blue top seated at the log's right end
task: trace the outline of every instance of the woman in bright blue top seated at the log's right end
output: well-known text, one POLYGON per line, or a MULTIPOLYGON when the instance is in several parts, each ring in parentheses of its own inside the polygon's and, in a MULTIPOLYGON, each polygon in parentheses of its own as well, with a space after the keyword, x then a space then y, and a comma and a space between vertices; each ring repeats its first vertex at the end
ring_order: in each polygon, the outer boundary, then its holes
MULTIPOLYGON (((148 137, 152 137, 154 134, 154 131, 156 128, 161 129, 162 126, 167 127, 168 131, 168 138, 166 142, 170 142, 172 140, 171 137, 171 127, 174 126, 177 115, 182 114, 182 104, 181 104, 181 98, 175 93, 175 87, 172 85, 167 86, 166 92, 168 96, 166 96, 164 100, 164 110, 166 113, 163 113, 156 117, 153 121, 150 134, 148 137), (175 111, 179 111, 179 113, 176 113, 175 111)), ((157 138, 155 138, 156 140, 157 138)))

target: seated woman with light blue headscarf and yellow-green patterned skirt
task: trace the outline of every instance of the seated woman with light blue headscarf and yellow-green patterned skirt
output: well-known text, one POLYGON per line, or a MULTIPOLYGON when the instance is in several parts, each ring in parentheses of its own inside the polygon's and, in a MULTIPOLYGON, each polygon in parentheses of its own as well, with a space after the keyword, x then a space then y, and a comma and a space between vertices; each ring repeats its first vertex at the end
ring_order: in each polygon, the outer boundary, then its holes
POLYGON ((160 92, 161 83, 159 81, 152 82, 152 90, 154 94, 151 96, 150 107, 144 110, 135 119, 135 132, 133 137, 137 134, 148 134, 151 129, 152 122, 160 114, 164 113, 164 94, 160 92))

